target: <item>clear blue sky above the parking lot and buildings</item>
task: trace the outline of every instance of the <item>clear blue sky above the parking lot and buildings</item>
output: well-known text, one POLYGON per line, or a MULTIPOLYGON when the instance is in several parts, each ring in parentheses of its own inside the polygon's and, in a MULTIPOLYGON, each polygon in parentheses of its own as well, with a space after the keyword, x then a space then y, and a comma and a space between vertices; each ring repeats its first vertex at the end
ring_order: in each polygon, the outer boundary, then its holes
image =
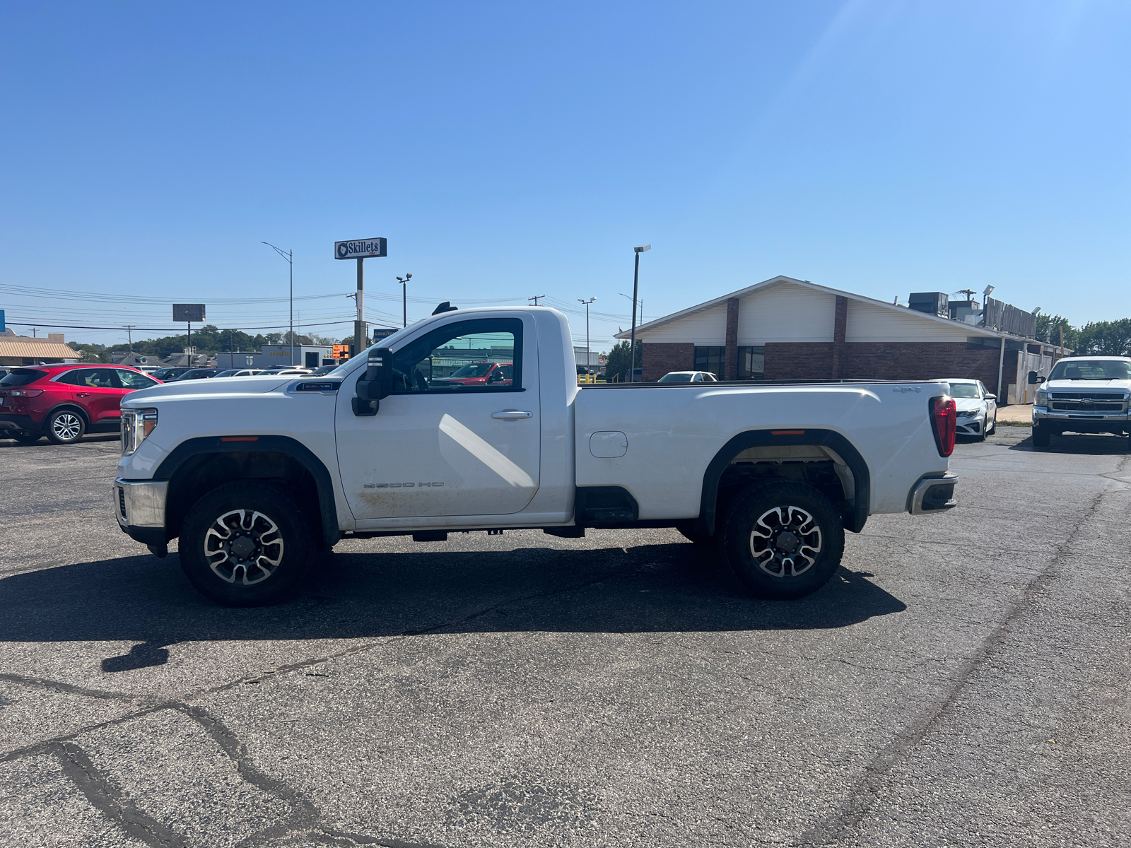
POLYGON ((596 296, 598 347, 645 242, 646 319, 777 274, 1131 315, 1129 35, 1131 5, 1070 0, 8 2, 0 308, 285 325, 266 240, 345 336, 333 242, 383 235, 371 320, 412 271, 411 320, 596 296))

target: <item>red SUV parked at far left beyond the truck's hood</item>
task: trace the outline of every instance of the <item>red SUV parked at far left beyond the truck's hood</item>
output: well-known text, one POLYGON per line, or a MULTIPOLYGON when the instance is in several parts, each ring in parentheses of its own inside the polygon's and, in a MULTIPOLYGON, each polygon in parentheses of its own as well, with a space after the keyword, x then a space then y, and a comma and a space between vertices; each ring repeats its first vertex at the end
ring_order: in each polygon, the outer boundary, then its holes
POLYGON ((70 444, 121 425, 122 397, 159 380, 118 365, 29 365, 0 379, 0 436, 70 444))

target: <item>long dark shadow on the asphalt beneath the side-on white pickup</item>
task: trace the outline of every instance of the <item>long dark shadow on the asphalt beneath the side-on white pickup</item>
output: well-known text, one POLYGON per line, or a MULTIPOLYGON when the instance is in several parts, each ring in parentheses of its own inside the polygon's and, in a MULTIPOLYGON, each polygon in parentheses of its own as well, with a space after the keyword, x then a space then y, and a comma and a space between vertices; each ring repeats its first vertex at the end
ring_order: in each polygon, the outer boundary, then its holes
POLYGON ((0 580, 0 640, 140 642, 103 661, 122 672, 162 665, 184 641, 820 630, 907 608, 869 577, 841 568, 808 598, 767 602, 690 544, 338 553, 290 600, 231 609, 198 595, 175 554, 130 556, 0 580))

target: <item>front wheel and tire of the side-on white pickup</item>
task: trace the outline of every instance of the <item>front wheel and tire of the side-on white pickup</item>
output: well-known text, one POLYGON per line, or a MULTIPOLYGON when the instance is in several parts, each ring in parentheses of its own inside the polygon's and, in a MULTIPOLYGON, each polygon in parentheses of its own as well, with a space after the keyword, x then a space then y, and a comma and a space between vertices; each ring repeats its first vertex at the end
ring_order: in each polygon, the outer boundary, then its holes
POLYGON ((223 606, 278 600, 314 557, 302 510, 286 490, 265 483, 225 483, 204 495, 181 526, 180 550, 189 582, 223 606))

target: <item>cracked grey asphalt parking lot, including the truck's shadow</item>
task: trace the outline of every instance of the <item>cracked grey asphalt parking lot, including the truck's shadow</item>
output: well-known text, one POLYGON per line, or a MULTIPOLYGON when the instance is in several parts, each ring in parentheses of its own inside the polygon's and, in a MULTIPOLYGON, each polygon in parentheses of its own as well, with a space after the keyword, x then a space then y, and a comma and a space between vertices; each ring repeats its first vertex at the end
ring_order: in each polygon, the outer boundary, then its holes
POLYGON ((0 441, 0 843, 1125 846, 1131 453, 959 444, 757 602, 674 531, 342 543, 223 609, 0 441))

